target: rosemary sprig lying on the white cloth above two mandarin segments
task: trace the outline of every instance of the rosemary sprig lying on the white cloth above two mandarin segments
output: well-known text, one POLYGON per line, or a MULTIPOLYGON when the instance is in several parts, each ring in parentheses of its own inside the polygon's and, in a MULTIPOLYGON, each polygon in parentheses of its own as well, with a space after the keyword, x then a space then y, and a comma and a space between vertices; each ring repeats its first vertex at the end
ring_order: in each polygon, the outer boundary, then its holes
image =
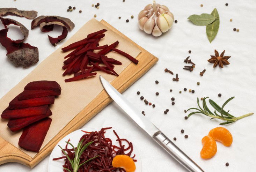
POLYGON ((191 112, 189 115, 188 115, 188 118, 191 116, 191 115, 193 115, 193 114, 196 114, 196 113, 202 113, 202 114, 204 114, 204 115, 206 115, 206 116, 208 116, 208 117, 211 117, 211 119, 214 119, 214 118, 217 118, 217 119, 221 119, 221 120, 224 120, 224 121, 226 121, 226 122, 222 122, 222 123, 220 123, 220 125, 225 125, 225 124, 230 124, 230 123, 232 123, 232 122, 235 122, 235 121, 237 121, 237 120, 239 120, 239 119, 242 119, 242 118, 244 118, 244 117, 248 117, 248 116, 250 116, 250 115, 252 115, 253 113, 248 113, 248 114, 245 114, 245 115, 242 115, 242 116, 240 116, 240 117, 234 117, 233 115, 231 115, 230 113, 228 113, 229 111, 225 111, 224 110, 224 107, 225 107, 225 105, 230 101, 230 100, 232 100, 233 98, 235 98, 235 97, 231 97, 231 98, 229 98, 229 99, 227 99, 227 101, 220 107, 219 105, 217 105, 215 102, 213 102, 213 100, 209 100, 209 103, 212 105, 212 107, 215 109, 214 111, 213 111, 213 113, 210 111, 210 109, 207 107, 207 105, 206 105, 206 99, 207 98, 209 98, 209 97, 205 97, 204 99, 203 99, 203 109, 202 109, 202 107, 200 107, 200 104, 199 104, 199 99, 197 98, 197 105, 198 105, 198 107, 199 107, 199 109, 198 108, 195 108, 195 107, 192 107, 192 108, 190 108, 190 109, 188 109, 187 111, 189 111, 189 110, 191 110, 191 109, 193 109, 193 110, 197 110, 196 112, 191 112), (219 113, 220 113, 220 115, 219 114, 217 114, 217 112, 216 111, 218 111, 219 113))

